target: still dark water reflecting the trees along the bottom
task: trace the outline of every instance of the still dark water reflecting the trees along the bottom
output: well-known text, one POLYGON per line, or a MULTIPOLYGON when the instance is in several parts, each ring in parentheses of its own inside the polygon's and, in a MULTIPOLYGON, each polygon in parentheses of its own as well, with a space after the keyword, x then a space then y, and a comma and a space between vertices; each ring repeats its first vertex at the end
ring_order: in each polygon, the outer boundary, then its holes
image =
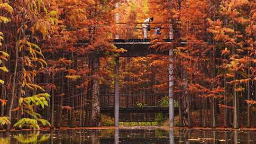
POLYGON ((0 132, 0 144, 256 144, 256 131, 73 129, 0 132))

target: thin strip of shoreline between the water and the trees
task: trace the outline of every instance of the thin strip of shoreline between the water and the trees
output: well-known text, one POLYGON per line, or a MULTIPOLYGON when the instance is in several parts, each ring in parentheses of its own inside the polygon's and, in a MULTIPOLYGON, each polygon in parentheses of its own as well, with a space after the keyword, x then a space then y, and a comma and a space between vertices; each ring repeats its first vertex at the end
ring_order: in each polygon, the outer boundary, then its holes
POLYGON ((234 128, 224 128, 224 127, 217 127, 217 128, 211 128, 211 127, 169 127, 169 126, 99 126, 99 127, 61 127, 61 128, 54 128, 51 129, 50 127, 46 128, 40 128, 37 130, 33 129, 11 129, 11 130, 0 130, 0 132, 14 132, 14 131, 56 131, 56 130, 72 130, 72 129, 189 129, 189 130, 219 130, 219 131, 256 131, 256 128, 246 128, 242 127, 239 129, 234 128))

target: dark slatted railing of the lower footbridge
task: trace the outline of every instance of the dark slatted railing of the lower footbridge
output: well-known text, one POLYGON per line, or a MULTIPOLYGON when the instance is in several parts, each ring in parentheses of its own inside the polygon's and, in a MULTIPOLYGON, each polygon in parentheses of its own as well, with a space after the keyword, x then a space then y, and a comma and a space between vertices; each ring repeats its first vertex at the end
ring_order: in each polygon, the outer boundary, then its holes
MULTIPOLYGON (((119 94, 119 107, 159 107, 167 94, 119 94)), ((114 94, 100 95, 101 108, 114 107, 114 94)))

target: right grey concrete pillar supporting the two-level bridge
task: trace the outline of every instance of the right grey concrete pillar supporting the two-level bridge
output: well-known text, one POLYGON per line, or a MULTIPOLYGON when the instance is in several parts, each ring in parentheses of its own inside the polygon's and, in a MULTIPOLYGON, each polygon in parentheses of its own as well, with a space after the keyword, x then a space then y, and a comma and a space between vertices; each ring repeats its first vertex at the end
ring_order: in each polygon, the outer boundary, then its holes
MULTIPOLYGON (((170 25, 170 39, 174 39, 173 25, 170 25)), ((174 49, 169 49, 169 120, 170 126, 174 127, 174 49)))

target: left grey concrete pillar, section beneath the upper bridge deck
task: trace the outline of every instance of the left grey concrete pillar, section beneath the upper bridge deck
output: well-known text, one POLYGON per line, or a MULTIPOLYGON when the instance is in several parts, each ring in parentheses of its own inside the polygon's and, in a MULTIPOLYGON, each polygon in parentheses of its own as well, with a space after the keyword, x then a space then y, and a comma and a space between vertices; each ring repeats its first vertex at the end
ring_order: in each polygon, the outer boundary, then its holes
POLYGON ((119 126, 119 57, 115 60, 115 126, 119 126))

